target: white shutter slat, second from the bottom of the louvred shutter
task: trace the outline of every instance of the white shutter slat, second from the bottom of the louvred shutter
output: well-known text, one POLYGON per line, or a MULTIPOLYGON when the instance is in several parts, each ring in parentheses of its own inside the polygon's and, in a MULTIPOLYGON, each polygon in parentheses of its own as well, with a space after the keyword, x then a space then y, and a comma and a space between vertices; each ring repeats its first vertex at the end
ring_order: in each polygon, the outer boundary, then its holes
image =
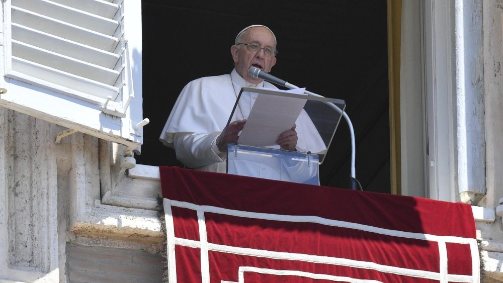
POLYGON ((80 61, 16 40, 12 40, 12 55, 109 85, 114 85, 120 75, 119 71, 80 61))

